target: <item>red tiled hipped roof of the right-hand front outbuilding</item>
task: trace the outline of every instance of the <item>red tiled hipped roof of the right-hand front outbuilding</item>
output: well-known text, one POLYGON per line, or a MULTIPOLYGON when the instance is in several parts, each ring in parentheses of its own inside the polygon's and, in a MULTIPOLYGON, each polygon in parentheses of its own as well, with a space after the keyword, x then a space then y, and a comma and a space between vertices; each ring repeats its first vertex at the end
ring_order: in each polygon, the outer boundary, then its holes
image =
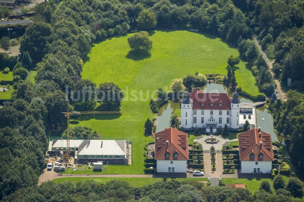
POLYGON ((260 129, 251 129, 246 132, 240 133, 239 139, 239 153, 240 160, 243 161, 273 161, 273 151, 271 135, 261 131, 260 129), (262 143, 262 146, 261 146, 262 143), (250 155, 254 154, 254 158, 250 158, 250 155), (263 158, 260 158, 260 154, 263 154, 263 158))

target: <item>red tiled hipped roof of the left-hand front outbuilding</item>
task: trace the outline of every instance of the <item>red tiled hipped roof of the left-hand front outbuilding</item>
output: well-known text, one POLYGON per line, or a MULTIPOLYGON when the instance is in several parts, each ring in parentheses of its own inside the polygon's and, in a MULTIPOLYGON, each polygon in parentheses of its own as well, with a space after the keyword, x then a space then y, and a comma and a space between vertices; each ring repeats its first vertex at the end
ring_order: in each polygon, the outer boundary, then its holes
POLYGON ((155 160, 188 160, 188 134, 176 128, 155 133, 155 160), (168 146, 166 141, 168 140, 168 146), (169 157, 166 157, 169 153, 169 157), (174 154, 177 153, 177 157, 174 154))

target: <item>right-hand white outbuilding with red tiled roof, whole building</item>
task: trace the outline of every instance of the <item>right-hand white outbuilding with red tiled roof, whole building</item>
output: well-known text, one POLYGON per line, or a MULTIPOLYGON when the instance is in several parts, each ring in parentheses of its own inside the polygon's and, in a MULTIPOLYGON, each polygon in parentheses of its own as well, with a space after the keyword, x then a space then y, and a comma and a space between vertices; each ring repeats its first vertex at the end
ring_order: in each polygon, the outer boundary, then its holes
POLYGON ((255 128, 240 133, 238 139, 241 173, 271 173, 271 135, 255 128))

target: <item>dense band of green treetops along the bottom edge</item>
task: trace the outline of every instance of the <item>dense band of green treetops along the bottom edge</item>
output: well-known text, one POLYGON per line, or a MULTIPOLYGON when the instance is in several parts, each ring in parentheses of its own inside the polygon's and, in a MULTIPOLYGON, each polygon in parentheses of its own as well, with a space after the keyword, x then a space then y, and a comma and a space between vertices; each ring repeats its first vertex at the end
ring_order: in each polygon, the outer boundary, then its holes
MULTIPOLYGON (((267 184, 266 184, 267 185, 267 184)), ((268 185, 269 186, 269 183, 268 185)), ((264 186, 261 190, 251 195, 249 190, 244 188, 234 189, 232 187, 210 187, 204 186, 195 180, 165 180, 148 184, 144 187, 133 188, 129 183, 120 180, 111 180, 105 184, 97 183, 94 180, 80 181, 73 183, 65 181, 54 183, 44 182, 40 186, 24 188, 14 194, 5 197, 5 201, 192 201, 192 202, 213 202, 213 201, 282 201, 299 202, 300 198, 290 196, 287 190, 279 189, 277 194, 266 192, 264 186)))

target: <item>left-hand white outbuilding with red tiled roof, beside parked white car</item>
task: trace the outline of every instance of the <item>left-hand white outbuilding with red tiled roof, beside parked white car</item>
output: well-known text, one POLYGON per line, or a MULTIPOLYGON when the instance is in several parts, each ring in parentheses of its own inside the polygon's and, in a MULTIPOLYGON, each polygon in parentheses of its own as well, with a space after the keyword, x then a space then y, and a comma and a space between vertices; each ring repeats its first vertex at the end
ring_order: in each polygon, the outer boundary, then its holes
POLYGON ((155 134, 157 173, 186 173, 188 134, 176 128, 166 128, 155 134))

